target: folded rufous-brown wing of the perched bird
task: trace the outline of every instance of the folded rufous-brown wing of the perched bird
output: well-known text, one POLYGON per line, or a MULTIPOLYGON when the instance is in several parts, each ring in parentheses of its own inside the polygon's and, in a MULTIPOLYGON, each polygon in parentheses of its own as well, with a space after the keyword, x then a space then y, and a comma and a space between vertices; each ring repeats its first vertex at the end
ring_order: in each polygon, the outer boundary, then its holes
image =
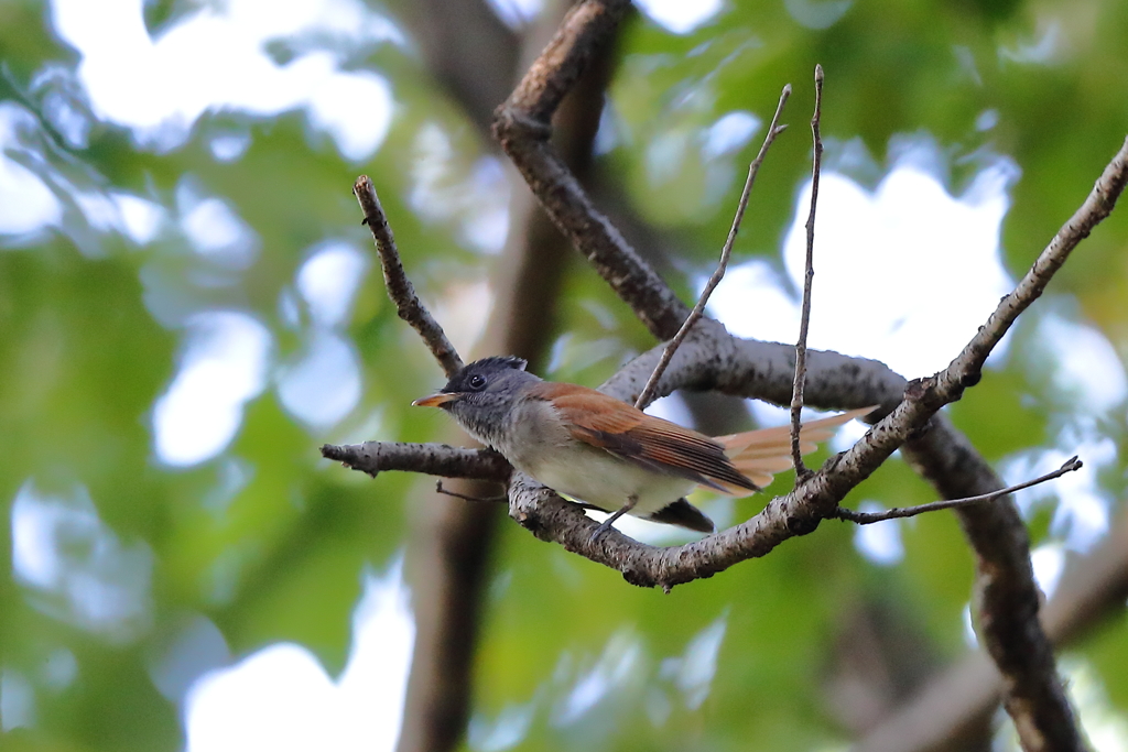
POLYGON ((587 387, 546 381, 534 387, 534 395, 552 400, 575 439, 628 462, 722 493, 747 495, 759 489, 733 467, 721 443, 696 431, 587 387))

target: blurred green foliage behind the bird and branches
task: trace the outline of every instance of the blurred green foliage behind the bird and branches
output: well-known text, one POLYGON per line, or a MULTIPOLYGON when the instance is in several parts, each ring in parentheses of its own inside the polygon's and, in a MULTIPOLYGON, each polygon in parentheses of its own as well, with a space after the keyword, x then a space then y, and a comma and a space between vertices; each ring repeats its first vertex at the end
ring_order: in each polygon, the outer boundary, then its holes
MULTIPOLYGON (((143 23, 167 34, 208 6, 147 2, 143 23)), ((371 3, 364 12, 382 9, 371 3)), ((488 179, 501 175, 492 147, 409 44, 342 45, 347 68, 388 77, 395 99, 387 138, 355 163, 299 112, 209 110, 187 124, 183 142, 146 145, 97 114, 77 73, 80 55, 52 24, 50 5, 0 0, 0 105, 21 118, 0 133, 3 153, 61 206, 39 231, 0 236, 0 499, 6 521, 18 503, 39 503, 68 510, 73 524, 51 529, 65 577, 37 584, 6 567, 0 578, 8 693, 0 707, 14 713, 17 695, 34 707, 3 719, 6 728, 26 727, 0 742, 180 749, 183 696, 162 695, 153 666, 186 622, 202 617, 218 627, 236 657, 300 643, 335 675, 364 573, 385 570, 403 550, 420 483, 347 472, 319 460, 318 445, 424 441, 443 426, 439 416, 407 413, 441 378, 384 297, 353 178, 374 177, 421 294, 449 320, 466 319, 467 331, 482 302, 459 308, 455 299, 484 283, 496 259, 474 222, 490 196, 503 203, 506 189, 488 179), (233 157, 217 156, 228 142, 243 145, 233 157), (248 263, 193 246, 188 194, 220 200, 249 228, 248 263), (160 212, 151 237, 139 241, 90 210, 91 201, 121 195, 160 212), (311 425, 287 407, 280 384, 316 334, 296 290, 302 265, 326 241, 347 244, 368 263, 343 328, 362 388, 344 417, 311 425), (156 450, 155 410, 191 350, 192 316, 208 311, 244 313, 268 333, 266 375, 243 405, 235 437, 203 461, 175 467, 156 450), (127 618, 99 620, 89 610, 90 599, 111 591, 133 599, 127 618), (59 665, 71 669, 51 669, 59 665)), ((953 195, 995 156, 1014 160, 1022 175, 1011 189, 1003 254, 1020 275, 1125 136, 1126 42, 1128 5, 1119 0, 740 0, 685 35, 638 15, 624 30, 598 166, 638 216, 681 249, 667 274, 686 294, 714 263, 744 165, 791 81, 793 132, 765 163, 737 245, 740 260, 779 264, 809 170, 802 113, 821 62, 828 163, 860 183, 881 179, 891 144, 904 136, 927 134, 940 144, 937 178, 953 195), (758 130, 738 148, 706 153, 707 130, 731 113, 755 117, 758 130), (861 144, 867 160, 846 160, 848 144, 861 144)), ((282 64, 336 42, 271 44, 282 64)), ((1121 206, 1052 290, 1121 363, 1126 238, 1121 206)), ((559 311, 556 378, 598 383, 653 344, 582 265, 566 281, 559 311)), ((1058 391, 1052 354, 1038 338, 1038 327, 1023 324, 1008 355, 952 415, 997 462, 1060 448, 1077 426, 1095 426, 1116 443, 1095 494, 1117 520, 1128 463, 1125 405, 1086 414, 1077 406, 1084 396, 1058 391)), ((848 503, 855 499, 908 505, 931 492, 893 460, 848 503)), ((1032 542, 1066 541, 1057 497, 1039 499, 1024 507, 1032 542)), ((754 514, 763 503, 740 502, 735 513, 754 514)), ((12 561, 12 524, 5 529, 0 558, 12 561)), ((899 530, 904 558, 895 565, 872 563, 854 530, 827 523, 761 560, 664 595, 504 525, 470 746, 500 749, 491 740, 514 728, 522 749, 721 751, 748 749, 755 738, 757 749, 805 750, 848 740, 844 719, 828 708, 852 614, 878 609, 906 626, 918 640, 919 665, 909 666, 917 675, 967 649, 972 557, 954 520, 928 515, 899 530)), ((1120 713, 1128 711, 1128 674, 1118 669, 1125 629, 1121 614, 1076 648, 1120 713)))

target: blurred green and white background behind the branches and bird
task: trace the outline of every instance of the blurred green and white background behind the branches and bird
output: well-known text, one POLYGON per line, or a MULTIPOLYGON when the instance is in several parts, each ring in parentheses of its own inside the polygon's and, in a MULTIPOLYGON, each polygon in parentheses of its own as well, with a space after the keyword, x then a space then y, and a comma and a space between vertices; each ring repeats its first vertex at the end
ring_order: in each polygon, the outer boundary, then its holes
MULTIPOLYGON (((450 502, 318 446, 459 439, 408 407, 442 374, 387 301, 350 191, 372 176, 421 295, 464 354, 485 346, 529 232, 488 113, 561 12, 0 0, 0 746, 394 749, 428 612, 413 521, 450 502)), ((811 344, 925 375, 1121 144, 1126 45, 1119 0, 649 0, 603 61, 578 160, 689 300, 792 82, 792 129, 711 309, 791 340, 820 62, 811 344)), ((1086 462, 1016 497, 1051 596, 1122 524, 1126 246, 1120 207, 951 408, 1010 481, 1086 462)), ((654 344, 579 255, 558 274, 544 375, 596 386, 654 344)), ((783 422, 696 397, 655 409, 704 430, 783 422)), ((931 499, 895 457, 847 503, 931 499)), ((764 503, 695 501, 721 523, 764 503)), ((946 513, 827 523, 668 595, 497 516, 464 626, 464 749, 844 749, 977 649, 972 557, 946 513)), ((1116 605, 1060 658, 1110 751, 1128 750, 1116 605)))

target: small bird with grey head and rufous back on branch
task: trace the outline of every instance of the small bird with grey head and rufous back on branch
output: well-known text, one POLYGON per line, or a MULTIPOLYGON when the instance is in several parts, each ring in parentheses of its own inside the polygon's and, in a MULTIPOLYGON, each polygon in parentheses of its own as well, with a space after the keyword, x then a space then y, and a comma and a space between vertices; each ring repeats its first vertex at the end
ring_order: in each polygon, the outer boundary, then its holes
MULTIPOLYGON (((625 513, 711 533, 713 521, 686 494, 704 486, 749 496, 792 467, 791 426, 711 439, 594 389, 544 381, 526 365, 514 356, 475 361, 439 393, 412 404, 441 407, 521 472, 611 512, 593 538, 625 513)), ((800 431, 803 453, 873 409, 808 423, 800 431)))

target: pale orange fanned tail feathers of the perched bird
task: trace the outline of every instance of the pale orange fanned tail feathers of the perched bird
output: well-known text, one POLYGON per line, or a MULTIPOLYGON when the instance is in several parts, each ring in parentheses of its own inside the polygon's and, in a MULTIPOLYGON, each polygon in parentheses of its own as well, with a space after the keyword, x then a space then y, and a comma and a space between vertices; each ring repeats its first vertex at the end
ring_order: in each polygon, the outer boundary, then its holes
MULTIPOLYGON (((867 415, 876 408, 876 405, 863 407, 804 423, 799 431, 800 450, 803 454, 813 452, 819 448, 819 442, 835 434, 838 426, 867 415)), ((772 483, 774 474, 783 472, 793 465, 790 425, 717 436, 716 441, 724 446, 737 470, 761 488, 772 483)))

